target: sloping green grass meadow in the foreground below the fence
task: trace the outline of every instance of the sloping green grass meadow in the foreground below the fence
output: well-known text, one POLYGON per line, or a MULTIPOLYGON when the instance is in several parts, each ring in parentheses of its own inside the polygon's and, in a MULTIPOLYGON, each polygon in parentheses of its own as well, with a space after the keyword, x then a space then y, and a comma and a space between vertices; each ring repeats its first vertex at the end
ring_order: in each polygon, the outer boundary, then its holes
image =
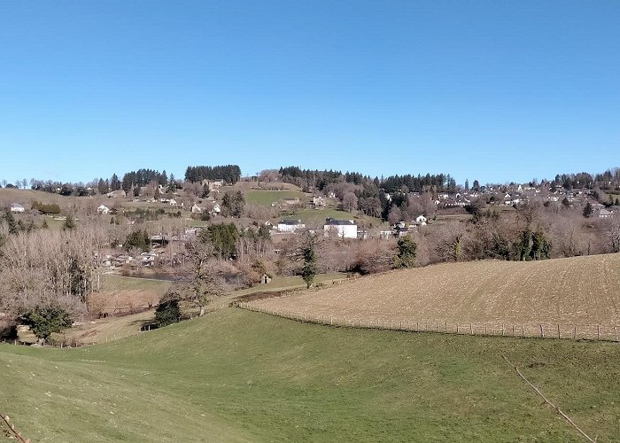
POLYGON ((0 346, 34 441, 620 439, 620 346, 351 330, 227 308, 80 349, 0 346))

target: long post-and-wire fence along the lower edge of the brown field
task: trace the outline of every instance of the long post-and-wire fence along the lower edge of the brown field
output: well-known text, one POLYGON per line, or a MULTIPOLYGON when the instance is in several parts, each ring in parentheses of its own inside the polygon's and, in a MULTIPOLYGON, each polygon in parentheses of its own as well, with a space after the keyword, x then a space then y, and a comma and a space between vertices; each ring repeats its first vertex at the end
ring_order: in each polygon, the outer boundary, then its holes
POLYGON ((446 320, 394 320, 382 318, 346 318, 342 315, 314 315, 274 309, 270 307, 241 301, 237 307, 250 311, 269 315, 277 315, 283 318, 305 323, 327 324, 331 326, 345 326, 349 328, 379 329, 379 330, 405 330, 409 332, 439 332, 460 335, 482 335, 493 337, 515 338, 565 338, 565 339, 589 339, 604 341, 620 341, 618 333, 620 326, 600 324, 558 324, 558 323, 498 323, 498 322, 448 322, 446 320))

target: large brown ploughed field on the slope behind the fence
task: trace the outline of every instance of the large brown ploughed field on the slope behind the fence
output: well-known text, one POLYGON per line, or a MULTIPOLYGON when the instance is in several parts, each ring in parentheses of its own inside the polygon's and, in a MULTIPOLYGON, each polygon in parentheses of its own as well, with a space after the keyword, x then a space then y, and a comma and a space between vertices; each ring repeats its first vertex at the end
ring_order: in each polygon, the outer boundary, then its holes
POLYGON ((296 291, 254 305, 357 322, 599 324, 609 330, 620 326, 620 254, 446 263, 296 291))

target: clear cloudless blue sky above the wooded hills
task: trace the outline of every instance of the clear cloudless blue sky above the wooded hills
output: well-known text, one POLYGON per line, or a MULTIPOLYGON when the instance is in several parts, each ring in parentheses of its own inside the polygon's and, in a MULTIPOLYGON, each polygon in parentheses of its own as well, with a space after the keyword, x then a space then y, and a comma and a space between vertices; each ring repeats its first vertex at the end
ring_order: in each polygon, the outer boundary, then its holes
POLYGON ((0 179, 620 166, 620 2, 0 2, 0 179))

